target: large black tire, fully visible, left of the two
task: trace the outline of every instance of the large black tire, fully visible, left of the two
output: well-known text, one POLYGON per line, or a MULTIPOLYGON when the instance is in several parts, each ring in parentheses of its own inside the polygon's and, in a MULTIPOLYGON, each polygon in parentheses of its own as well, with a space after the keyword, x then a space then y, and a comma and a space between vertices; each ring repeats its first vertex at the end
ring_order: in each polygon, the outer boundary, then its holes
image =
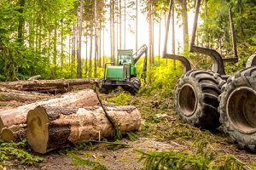
POLYGON ((202 129, 219 127, 218 95, 224 82, 213 71, 196 69, 184 73, 177 82, 175 92, 179 118, 202 129))

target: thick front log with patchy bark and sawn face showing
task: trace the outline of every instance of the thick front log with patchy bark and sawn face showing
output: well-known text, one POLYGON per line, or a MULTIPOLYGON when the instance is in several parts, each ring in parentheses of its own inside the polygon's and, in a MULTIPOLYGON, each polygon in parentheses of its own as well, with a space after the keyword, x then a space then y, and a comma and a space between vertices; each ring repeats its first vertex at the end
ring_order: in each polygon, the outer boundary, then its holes
MULTIPOLYGON (((107 107, 106 110, 119 124, 122 133, 139 129, 141 115, 135 107, 107 107)), ((112 136, 113 132, 112 124, 99 106, 38 106, 27 114, 27 142, 33 150, 42 154, 68 146, 70 143, 107 138, 112 136)))

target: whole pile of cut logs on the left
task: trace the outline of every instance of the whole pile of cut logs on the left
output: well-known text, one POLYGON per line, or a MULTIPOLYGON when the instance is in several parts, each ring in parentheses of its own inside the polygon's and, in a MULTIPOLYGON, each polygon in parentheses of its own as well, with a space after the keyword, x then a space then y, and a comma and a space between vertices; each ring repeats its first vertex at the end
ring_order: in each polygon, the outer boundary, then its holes
POLYGON ((44 154, 69 144, 112 136, 114 127, 108 116, 117 122, 122 133, 137 131, 140 112, 133 106, 102 109, 96 92, 90 89, 96 83, 96 79, 1 82, 0 99, 4 92, 5 101, 20 99, 29 104, 0 110, 0 138, 7 141, 26 138, 33 150, 44 154), (71 89, 76 91, 66 93, 71 89), (40 94, 53 91, 65 94, 40 94), (33 94, 35 98, 26 98, 33 94), (17 95, 24 97, 11 98, 17 95))

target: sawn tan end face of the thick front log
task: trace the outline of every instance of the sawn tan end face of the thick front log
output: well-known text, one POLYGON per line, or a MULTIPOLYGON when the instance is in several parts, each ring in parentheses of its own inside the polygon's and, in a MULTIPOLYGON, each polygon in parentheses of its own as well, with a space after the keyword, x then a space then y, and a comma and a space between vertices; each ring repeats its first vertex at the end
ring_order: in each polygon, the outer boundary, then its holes
POLYGON ((36 109, 28 111, 26 116, 27 131, 26 138, 32 149, 38 153, 47 152, 49 140, 48 115, 43 107, 38 106, 36 109))

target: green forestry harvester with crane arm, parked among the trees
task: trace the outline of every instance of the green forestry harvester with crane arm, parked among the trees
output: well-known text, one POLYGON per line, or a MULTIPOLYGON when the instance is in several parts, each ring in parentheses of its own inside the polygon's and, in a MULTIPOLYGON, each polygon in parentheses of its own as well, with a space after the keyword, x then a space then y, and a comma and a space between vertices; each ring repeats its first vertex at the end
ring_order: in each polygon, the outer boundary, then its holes
POLYGON ((132 49, 119 49, 116 65, 113 62, 105 63, 104 65, 104 77, 100 81, 100 92, 102 94, 108 94, 111 90, 120 86, 132 95, 137 94, 141 87, 141 81, 137 77, 135 64, 143 54, 145 54, 145 59, 143 61, 142 77, 145 78, 148 47, 143 45, 135 54, 133 54, 132 49))

